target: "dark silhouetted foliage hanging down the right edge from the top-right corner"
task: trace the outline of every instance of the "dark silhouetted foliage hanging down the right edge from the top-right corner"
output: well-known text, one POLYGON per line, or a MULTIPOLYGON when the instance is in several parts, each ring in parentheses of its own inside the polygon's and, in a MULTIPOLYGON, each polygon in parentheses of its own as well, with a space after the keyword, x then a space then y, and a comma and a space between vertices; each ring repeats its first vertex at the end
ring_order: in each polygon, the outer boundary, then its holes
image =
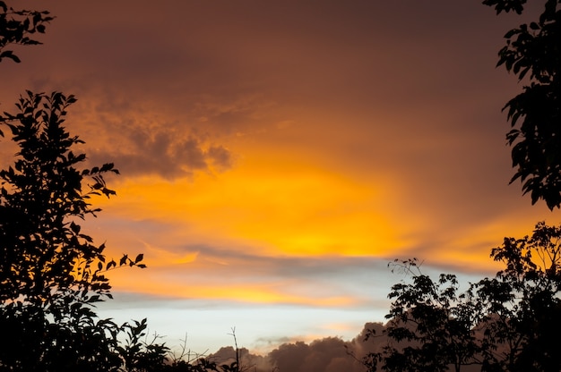
MULTIPOLYGON (((525 0, 485 0, 496 13, 522 13, 525 0)), ((560 0, 547 0, 539 20, 505 34, 506 46, 497 66, 505 65, 518 80, 526 78, 522 93, 503 108, 513 128, 506 134, 512 147, 511 183, 522 182, 531 203, 543 199, 549 209, 561 207, 561 9, 560 0)))

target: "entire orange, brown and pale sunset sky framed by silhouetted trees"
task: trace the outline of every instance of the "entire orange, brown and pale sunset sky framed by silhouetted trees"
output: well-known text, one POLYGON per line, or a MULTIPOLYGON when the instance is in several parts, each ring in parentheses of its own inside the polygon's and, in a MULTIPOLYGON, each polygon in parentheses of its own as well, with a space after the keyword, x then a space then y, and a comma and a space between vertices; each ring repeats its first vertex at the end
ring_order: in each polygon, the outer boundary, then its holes
POLYGON ((67 129, 121 172, 83 227, 148 266, 110 273, 99 314, 148 317, 169 345, 215 351, 233 327, 263 353, 350 340, 407 280, 394 258, 467 283, 494 275, 505 236, 559 223, 508 184, 501 107, 521 86, 496 53, 523 17, 467 0, 17 6, 56 20, 0 65, 0 109, 25 89, 78 98, 67 129))

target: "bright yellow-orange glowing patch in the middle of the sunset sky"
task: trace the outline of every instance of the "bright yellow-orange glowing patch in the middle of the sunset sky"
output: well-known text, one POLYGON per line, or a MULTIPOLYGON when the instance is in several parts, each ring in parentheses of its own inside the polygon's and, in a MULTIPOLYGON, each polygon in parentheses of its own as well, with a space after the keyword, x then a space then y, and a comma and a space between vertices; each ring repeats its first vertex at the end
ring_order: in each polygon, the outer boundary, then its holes
POLYGON ((101 207, 184 226, 170 239, 237 241, 272 256, 370 256, 405 244, 384 215, 387 190, 305 164, 246 163, 194 182, 130 179, 117 190, 101 207))

